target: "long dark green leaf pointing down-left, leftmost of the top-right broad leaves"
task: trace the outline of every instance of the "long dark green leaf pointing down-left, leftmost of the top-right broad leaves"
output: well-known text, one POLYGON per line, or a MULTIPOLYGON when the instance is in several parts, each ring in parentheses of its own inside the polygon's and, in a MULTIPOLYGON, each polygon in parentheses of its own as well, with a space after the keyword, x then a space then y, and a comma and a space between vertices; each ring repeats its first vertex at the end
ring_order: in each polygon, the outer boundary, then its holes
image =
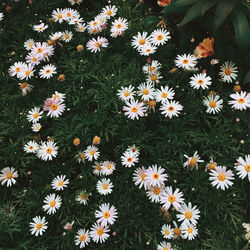
POLYGON ((204 15, 210 8, 215 5, 217 0, 201 0, 194 4, 187 12, 183 20, 181 21, 179 27, 183 26, 184 24, 187 24, 191 22, 193 19, 200 15, 204 15))

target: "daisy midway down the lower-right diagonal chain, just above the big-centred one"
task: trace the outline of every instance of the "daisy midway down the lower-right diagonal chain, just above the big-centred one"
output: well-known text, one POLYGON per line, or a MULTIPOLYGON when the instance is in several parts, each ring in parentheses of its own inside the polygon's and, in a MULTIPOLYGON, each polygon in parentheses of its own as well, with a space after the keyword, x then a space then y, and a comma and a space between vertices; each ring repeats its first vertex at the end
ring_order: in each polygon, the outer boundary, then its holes
POLYGON ((161 204, 163 204, 163 208, 168 210, 171 205, 175 208, 175 210, 179 210, 181 205, 184 203, 183 193, 179 192, 179 188, 177 188, 174 192, 172 187, 166 187, 165 192, 161 196, 161 204))

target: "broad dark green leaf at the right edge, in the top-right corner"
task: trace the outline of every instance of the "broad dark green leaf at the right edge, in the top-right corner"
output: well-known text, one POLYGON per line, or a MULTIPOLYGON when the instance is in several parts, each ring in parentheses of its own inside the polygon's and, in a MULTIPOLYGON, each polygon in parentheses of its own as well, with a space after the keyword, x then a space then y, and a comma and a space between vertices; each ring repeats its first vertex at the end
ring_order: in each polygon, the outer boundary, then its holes
POLYGON ((241 51, 247 50, 249 46, 249 23, 244 12, 236 8, 232 12, 232 22, 234 26, 235 39, 241 51))

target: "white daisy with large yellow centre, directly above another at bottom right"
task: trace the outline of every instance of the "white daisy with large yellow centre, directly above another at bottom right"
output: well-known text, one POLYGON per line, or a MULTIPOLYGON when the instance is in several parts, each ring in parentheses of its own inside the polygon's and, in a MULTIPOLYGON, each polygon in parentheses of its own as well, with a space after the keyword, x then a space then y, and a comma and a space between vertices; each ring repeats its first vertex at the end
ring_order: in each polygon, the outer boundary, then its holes
POLYGON ((192 207, 191 202, 188 203, 188 206, 183 203, 181 208, 178 210, 180 214, 177 214, 176 217, 178 221, 183 221, 183 223, 190 222, 193 225, 197 224, 197 220, 200 218, 200 210, 196 206, 192 207))

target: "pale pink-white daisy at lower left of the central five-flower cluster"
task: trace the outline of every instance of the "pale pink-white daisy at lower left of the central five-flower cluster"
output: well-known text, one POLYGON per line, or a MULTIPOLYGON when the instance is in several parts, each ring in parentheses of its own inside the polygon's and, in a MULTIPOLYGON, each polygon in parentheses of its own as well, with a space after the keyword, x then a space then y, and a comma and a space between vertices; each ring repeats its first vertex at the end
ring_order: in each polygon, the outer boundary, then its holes
POLYGON ((127 106, 123 106, 123 111, 125 111, 125 115, 132 120, 139 119, 139 116, 144 116, 146 112, 146 107, 144 107, 143 102, 131 100, 130 102, 126 102, 126 105, 127 106))

